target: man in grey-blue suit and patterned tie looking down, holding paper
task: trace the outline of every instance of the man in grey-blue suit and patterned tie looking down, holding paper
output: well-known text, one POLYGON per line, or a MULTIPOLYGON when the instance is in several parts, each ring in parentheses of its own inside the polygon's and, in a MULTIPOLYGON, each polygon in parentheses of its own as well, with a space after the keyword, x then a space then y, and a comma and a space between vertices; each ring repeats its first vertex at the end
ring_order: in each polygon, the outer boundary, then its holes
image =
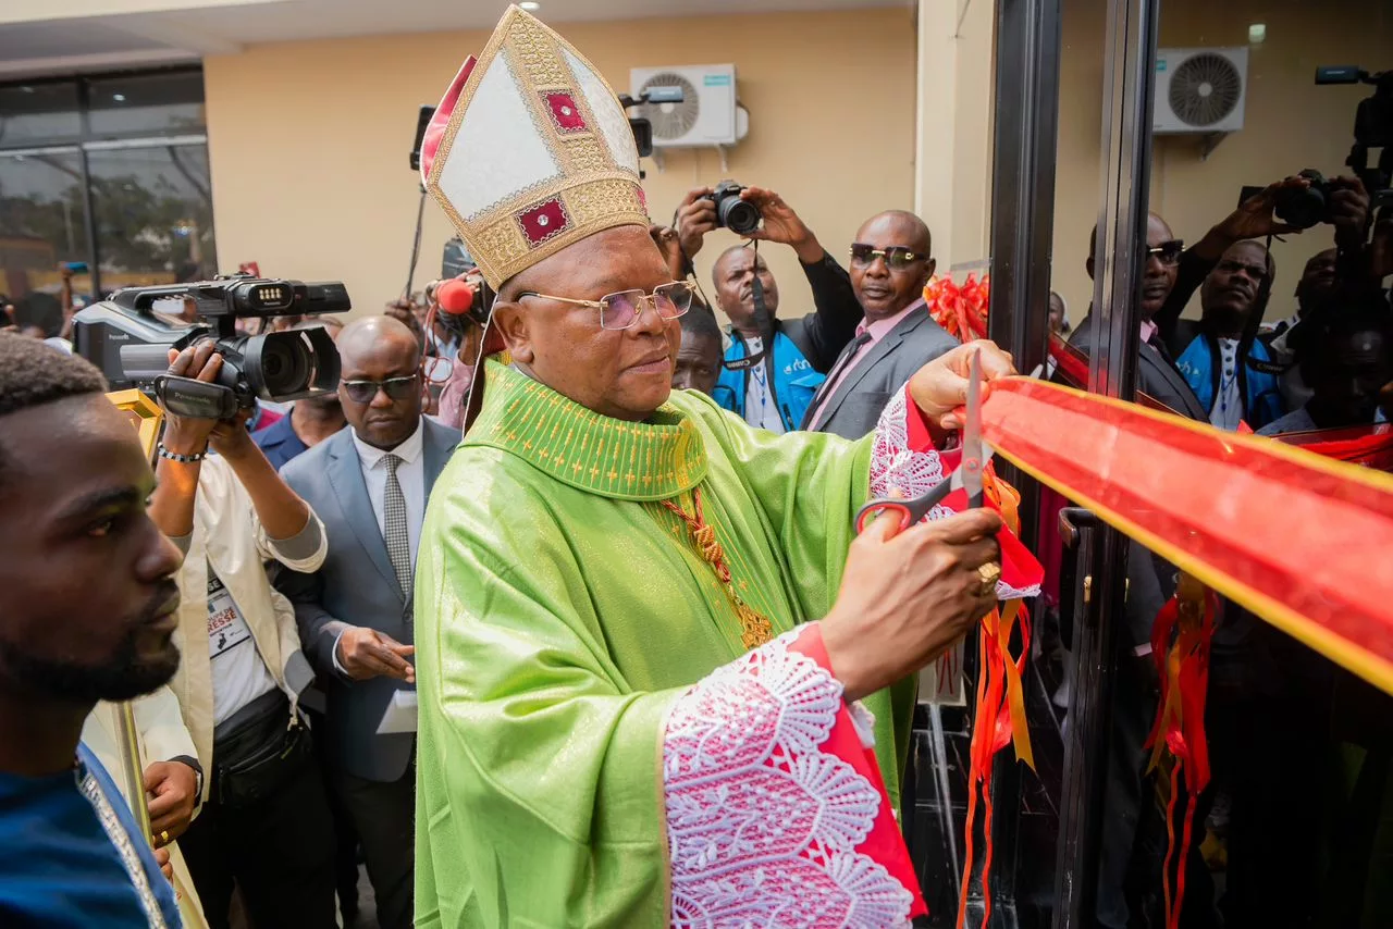
POLYGON ((460 432, 422 415, 421 344, 369 316, 338 337, 338 397, 351 429, 283 471, 323 511, 329 556, 312 575, 283 574, 305 655, 327 692, 334 781, 362 841, 384 929, 411 925, 415 735, 379 735, 401 689, 415 688, 412 578, 426 500, 460 432))

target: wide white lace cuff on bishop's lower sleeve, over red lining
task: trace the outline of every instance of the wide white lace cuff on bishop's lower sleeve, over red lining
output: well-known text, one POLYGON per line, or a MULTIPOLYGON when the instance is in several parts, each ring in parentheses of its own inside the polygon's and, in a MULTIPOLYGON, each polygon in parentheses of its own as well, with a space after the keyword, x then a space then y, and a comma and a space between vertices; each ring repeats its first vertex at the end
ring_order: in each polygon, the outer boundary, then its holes
POLYGON ((788 648, 801 634, 717 669, 671 710, 674 926, 908 925, 915 894, 858 851, 887 801, 857 759, 826 749, 846 713, 841 684, 788 648))

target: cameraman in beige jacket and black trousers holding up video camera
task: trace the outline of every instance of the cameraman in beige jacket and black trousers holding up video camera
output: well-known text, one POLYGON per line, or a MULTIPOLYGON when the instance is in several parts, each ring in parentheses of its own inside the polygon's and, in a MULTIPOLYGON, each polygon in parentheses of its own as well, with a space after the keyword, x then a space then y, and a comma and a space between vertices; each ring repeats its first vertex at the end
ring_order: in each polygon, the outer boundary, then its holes
MULTIPOLYGON (((170 351, 171 376, 212 382, 212 341, 170 351)), ((325 561, 323 525, 242 422, 166 411, 150 517, 184 553, 178 674, 170 688, 203 765, 203 808, 180 847, 212 929, 233 883, 259 929, 336 925, 333 832, 297 702, 313 673, 263 561, 325 561)))

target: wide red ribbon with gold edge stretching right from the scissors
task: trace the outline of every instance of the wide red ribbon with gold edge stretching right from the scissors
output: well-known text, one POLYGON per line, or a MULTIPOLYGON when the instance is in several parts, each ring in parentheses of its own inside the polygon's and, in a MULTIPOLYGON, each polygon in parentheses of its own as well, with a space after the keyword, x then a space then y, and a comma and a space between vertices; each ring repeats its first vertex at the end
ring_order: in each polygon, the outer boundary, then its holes
POLYGON ((1393 478, 1025 377, 997 453, 1183 571, 1393 692, 1393 478))

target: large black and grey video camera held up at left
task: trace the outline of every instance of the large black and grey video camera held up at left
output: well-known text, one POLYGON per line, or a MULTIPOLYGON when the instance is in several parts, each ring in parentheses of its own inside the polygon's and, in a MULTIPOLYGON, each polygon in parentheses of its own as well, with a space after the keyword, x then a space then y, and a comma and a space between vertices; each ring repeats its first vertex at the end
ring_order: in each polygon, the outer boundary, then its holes
POLYGON ((102 369, 113 390, 137 387, 178 416, 228 419, 258 400, 284 403, 338 387, 338 350, 323 329, 260 336, 237 333, 238 316, 341 313, 351 308, 338 281, 306 284, 237 274, 194 284, 128 287, 72 318, 74 351, 102 369), (155 311, 192 301, 196 323, 155 311), (169 350, 212 338, 223 357, 217 380, 174 377, 169 350))

